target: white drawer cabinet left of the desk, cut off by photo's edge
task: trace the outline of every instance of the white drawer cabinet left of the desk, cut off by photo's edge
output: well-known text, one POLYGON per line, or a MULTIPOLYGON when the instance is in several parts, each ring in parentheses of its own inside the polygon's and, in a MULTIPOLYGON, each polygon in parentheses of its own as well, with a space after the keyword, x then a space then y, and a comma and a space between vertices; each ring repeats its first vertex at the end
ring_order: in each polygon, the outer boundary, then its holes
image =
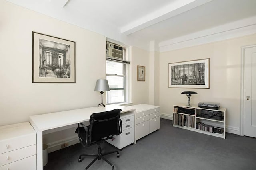
POLYGON ((29 122, 0 127, 0 170, 36 170, 36 132, 29 122))

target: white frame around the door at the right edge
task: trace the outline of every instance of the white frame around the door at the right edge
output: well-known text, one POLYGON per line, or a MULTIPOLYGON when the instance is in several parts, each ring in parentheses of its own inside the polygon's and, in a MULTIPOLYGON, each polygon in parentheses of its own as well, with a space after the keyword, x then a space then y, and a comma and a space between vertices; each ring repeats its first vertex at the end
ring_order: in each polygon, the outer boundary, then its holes
POLYGON ((247 48, 256 47, 256 45, 248 45, 241 47, 241 123, 240 136, 244 136, 244 51, 247 48))

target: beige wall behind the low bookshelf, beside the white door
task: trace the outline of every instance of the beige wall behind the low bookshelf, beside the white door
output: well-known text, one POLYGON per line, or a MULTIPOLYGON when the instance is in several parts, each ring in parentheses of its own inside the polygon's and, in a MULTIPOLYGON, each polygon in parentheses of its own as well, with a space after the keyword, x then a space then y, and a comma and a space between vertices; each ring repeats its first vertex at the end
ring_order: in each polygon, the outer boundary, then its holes
POLYGON ((190 104, 198 102, 220 102, 227 108, 228 131, 239 134, 241 47, 256 44, 256 35, 208 43, 194 47, 160 53, 160 107, 161 113, 172 116, 172 106, 187 103, 180 94, 186 90, 196 91, 190 104), (168 63, 210 58, 210 89, 168 88, 168 63))

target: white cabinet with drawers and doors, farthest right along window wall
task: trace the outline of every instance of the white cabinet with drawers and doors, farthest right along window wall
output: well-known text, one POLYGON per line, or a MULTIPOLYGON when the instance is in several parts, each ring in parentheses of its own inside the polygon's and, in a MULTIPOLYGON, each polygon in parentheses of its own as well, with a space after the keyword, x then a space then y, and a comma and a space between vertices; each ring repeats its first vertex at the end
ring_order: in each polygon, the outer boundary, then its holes
POLYGON ((138 104, 136 108, 136 140, 160 129, 160 107, 148 104, 138 104))

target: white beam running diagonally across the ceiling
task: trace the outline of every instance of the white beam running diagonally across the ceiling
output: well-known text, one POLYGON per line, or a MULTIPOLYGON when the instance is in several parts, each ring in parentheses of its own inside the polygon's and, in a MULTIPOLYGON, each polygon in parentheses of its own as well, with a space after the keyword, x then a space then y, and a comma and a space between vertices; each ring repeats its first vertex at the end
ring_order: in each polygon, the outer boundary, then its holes
POLYGON ((121 27, 120 31, 124 35, 129 35, 210 1, 212 0, 175 0, 167 6, 121 27))

